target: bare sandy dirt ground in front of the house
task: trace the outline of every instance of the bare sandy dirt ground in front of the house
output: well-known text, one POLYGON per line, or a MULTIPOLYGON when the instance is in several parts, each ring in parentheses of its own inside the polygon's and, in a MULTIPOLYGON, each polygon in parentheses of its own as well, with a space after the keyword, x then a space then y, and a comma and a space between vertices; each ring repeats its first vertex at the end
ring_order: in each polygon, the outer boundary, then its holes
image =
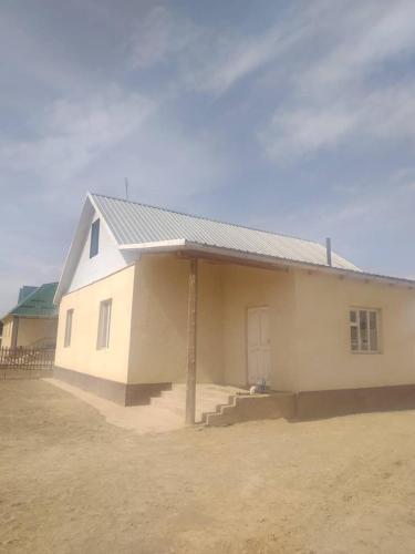
POLYGON ((0 552, 415 552, 415 412, 138 435, 0 382, 0 552))

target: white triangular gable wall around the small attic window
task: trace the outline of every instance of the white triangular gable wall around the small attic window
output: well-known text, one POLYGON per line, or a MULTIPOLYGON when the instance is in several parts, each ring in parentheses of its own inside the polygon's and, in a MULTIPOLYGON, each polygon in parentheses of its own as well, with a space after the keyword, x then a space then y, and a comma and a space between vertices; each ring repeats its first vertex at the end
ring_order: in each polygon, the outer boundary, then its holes
POLYGON ((114 271, 123 269, 136 258, 136 255, 133 253, 123 254, 118 250, 102 218, 100 222, 98 254, 93 258, 90 258, 91 224, 97 217, 98 215, 94 211, 90 218, 81 256, 68 293, 72 293, 73 290, 84 287, 85 285, 90 285, 97 279, 102 279, 114 271))

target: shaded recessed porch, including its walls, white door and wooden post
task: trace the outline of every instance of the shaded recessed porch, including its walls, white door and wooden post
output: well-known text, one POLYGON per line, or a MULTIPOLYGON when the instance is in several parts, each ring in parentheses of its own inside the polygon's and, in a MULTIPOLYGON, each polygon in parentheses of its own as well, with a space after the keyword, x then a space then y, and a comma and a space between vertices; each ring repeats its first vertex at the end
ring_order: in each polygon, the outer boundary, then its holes
POLYGON ((263 381, 268 390, 290 391, 293 307, 294 277, 287 269, 183 254, 143 256, 128 382, 183 383, 190 412, 196 383, 247 391, 263 381))

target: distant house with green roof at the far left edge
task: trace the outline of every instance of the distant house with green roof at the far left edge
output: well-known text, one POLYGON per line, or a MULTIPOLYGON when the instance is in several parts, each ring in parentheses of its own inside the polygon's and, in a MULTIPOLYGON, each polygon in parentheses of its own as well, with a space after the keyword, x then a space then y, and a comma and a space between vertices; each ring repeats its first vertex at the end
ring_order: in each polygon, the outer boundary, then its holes
POLYGON ((46 283, 20 289, 17 306, 2 318, 3 348, 55 346, 58 309, 53 297, 56 287, 58 283, 46 283))

